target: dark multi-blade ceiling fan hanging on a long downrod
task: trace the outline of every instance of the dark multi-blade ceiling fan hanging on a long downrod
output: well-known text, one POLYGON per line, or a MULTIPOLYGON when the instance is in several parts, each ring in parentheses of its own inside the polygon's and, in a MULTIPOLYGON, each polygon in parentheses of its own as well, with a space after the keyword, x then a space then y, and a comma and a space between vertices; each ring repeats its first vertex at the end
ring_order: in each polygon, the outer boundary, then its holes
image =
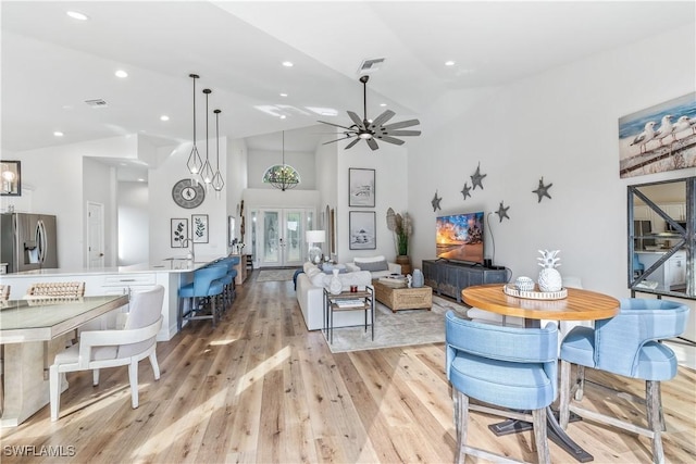
POLYGON ((387 124, 385 126, 384 123, 386 123, 387 121, 389 121, 391 117, 396 115, 396 113, 391 110, 386 110, 384 113, 380 114, 373 121, 368 120, 368 80, 369 79, 370 79, 370 76, 360 77, 360 81, 362 83, 362 91, 363 91, 362 103, 363 103, 364 117, 360 120, 360 116, 358 116, 356 113, 353 113, 352 111, 348 111, 347 112, 348 116, 350 116, 350 120, 353 122, 353 124, 349 127, 341 126, 334 123, 327 123, 325 121, 319 121, 322 124, 328 124, 330 126, 335 126, 344 129, 345 137, 341 137, 336 140, 327 141, 323 145, 335 143, 337 141, 347 140, 355 137, 356 139, 352 140, 350 143, 348 143, 345 150, 348 150, 349 148, 353 147, 360 140, 365 140, 368 142, 368 146, 372 150, 377 150, 380 148, 380 146, 377 146, 377 140, 386 141, 387 143, 403 145, 403 140, 400 140, 396 137, 421 135, 420 130, 399 130, 405 127, 411 127, 411 126, 421 124, 420 121, 418 120, 402 121, 400 123, 387 124))

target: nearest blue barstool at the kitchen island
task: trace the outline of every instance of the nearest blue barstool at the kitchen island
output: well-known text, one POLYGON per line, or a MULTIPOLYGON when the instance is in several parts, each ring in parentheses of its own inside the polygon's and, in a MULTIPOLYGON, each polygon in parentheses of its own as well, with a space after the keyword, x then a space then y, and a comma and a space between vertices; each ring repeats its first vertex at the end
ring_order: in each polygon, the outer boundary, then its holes
POLYGON ((178 289, 178 321, 177 328, 182 329, 184 321, 212 319, 213 327, 217 322, 220 310, 217 297, 222 294, 225 285, 221 280, 227 274, 226 266, 210 265, 194 272, 194 281, 178 289), (185 303, 190 303, 189 311, 185 311, 185 303), (206 303, 210 303, 210 314, 201 314, 206 303))

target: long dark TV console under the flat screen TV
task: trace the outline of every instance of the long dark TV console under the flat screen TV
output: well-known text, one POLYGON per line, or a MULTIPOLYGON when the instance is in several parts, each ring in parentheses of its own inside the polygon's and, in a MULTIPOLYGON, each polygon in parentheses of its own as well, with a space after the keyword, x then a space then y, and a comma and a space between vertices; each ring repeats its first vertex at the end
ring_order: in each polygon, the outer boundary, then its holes
POLYGON ((508 269, 483 267, 477 264, 455 263, 446 260, 423 260, 423 278, 437 294, 457 299, 461 303, 461 291, 473 285, 505 284, 508 269))

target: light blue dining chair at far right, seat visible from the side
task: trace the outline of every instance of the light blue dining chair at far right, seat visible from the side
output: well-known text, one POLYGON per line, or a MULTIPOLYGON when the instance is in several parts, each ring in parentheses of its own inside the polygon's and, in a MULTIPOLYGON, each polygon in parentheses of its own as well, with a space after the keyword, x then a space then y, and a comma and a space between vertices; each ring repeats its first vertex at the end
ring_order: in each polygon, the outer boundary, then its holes
MULTIPOLYGON (((626 298, 614 317, 595 322, 595 328, 575 327, 561 342, 561 427, 568 426, 570 412, 592 421, 610 424, 651 438, 652 460, 664 462, 660 381, 676 375, 674 352, 660 342, 678 337, 686 328, 688 306, 667 300, 626 298), (576 364, 576 378, 571 388, 571 364, 576 364), (588 411, 571 403, 571 394, 582 401, 584 368, 645 380, 647 427, 617 417, 588 411)), ((622 397, 626 397, 625 393, 622 397)))

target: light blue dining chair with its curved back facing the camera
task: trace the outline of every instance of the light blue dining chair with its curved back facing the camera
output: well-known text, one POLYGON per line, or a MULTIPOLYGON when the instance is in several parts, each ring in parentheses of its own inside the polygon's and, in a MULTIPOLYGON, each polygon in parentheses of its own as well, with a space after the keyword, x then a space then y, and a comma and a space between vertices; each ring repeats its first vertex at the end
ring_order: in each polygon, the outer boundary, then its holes
POLYGON ((471 410, 533 423, 538 462, 549 463, 546 411, 557 394, 556 324, 549 323, 545 328, 501 327, 463 319, 449 311, 445 316, 445 367, 455 403, 456 462, 463 462, 468 454, 509 460, 467 444, 471 410), (470 404, 470 398, 486 405, 470 404))

